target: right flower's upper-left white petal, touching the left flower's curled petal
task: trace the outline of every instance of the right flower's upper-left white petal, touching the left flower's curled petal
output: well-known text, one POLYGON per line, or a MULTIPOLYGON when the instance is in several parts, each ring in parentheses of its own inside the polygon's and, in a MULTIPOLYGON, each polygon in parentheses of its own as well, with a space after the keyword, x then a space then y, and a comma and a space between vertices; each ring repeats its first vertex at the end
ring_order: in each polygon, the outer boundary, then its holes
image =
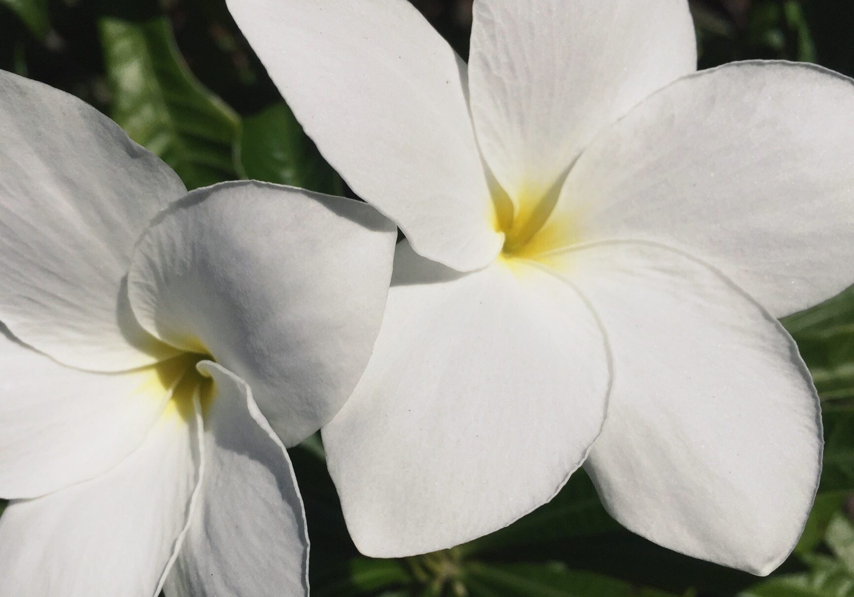
POLYGON ((325 158, 419 254, 461 270, 498 254, 465 64, 406 0, 229 0, 325 158))

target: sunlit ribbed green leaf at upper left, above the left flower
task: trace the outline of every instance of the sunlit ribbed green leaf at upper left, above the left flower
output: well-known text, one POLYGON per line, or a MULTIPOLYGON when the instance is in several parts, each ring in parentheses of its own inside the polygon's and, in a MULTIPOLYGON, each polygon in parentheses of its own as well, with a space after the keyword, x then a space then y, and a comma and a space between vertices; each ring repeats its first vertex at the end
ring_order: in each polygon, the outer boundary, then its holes
POLYGON ((237 116, 190 73, 168 21, 102 17, 98 26, 113 119, 190 190, 236 179, 237 116))

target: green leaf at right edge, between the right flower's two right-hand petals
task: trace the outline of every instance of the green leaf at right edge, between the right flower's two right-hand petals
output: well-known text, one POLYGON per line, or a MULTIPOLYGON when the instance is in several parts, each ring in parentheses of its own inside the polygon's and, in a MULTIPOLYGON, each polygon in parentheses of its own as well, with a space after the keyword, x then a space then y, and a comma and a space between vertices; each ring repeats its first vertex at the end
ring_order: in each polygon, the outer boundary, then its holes
POLYGON ((854 399, 854 287, 783 319, 822 401, 854 399))

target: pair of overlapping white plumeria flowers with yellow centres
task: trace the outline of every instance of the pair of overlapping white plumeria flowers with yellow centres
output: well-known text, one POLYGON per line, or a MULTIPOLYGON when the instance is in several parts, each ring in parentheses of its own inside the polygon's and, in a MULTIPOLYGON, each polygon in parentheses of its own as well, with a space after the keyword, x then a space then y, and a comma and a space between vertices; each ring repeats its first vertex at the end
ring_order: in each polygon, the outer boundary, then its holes
POLYGON ((686 0, 475 0, 468 64, 406 0, 229 6, 368 204, 188 194, 0 73, 3 590, 307 594, 285 448, 323 425, 368 555, 583 465, 630 530, 779 565, 822 428, 775 318, 854 282, 852 81, 695 73, 686 0))

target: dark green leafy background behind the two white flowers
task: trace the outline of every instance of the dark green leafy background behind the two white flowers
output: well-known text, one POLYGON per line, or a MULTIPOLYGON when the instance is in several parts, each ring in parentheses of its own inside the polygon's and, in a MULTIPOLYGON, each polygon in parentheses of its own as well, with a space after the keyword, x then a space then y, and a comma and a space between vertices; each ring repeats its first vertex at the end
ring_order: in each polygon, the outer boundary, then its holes
MULTIPOLYGON (((471 0, 411 1, 468 55, 471 0)), ((763 58, 854 73, 849 2, 692 0, 691 9, 701 67, 763 58)), ((0 0, 0 67, 111 115, 190 188, 253 178, 352 196, 223 0, 0 0)), ((854 597, 854 290, 783 323, 816 380, 827 445, 804 536, 772 576, 687 558, 623 530, 583 471, 552 502, 493 535, 416 558, 366 558, 349 539, 314 436, 290 451, 312 541, 313 594, 854 597)))

